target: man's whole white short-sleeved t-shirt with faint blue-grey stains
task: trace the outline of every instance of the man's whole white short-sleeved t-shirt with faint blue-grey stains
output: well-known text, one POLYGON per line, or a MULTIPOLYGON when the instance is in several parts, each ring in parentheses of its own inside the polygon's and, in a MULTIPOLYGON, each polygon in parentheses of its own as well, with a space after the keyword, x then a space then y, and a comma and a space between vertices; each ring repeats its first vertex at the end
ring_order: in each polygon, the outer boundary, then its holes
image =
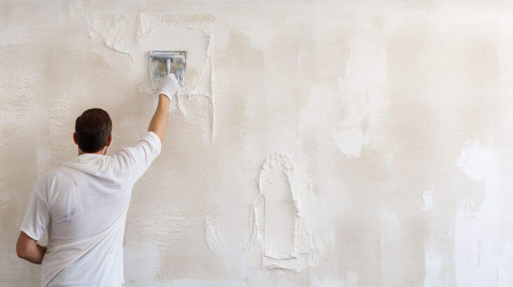
POLYGON ((39 240, 48 229, 42 286, 121 286, 123 235, 134 183, 161 151, 148 131, 112 156, 86 153, 34 186, 20 229, 39 240))

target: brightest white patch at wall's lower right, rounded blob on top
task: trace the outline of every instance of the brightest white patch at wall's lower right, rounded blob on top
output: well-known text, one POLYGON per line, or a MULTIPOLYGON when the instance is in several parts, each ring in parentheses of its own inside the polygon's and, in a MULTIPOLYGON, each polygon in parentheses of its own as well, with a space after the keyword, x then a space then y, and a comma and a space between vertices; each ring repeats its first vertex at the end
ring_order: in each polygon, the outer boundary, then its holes
POLYGON ((507 256, 497 253, 502 242, 497 233, 501 228, 498 211, 502 209, 496 197, 497 156, 479 143, 467 143, 457 164, 470 180, 484 183, 485 195, 478 211, 472 211, 472 202, 458 201, 454 236, 456 283, 466 287, 496 286, 498 278, 503 277, 499 274, 504 269, 500 259, 507 256))

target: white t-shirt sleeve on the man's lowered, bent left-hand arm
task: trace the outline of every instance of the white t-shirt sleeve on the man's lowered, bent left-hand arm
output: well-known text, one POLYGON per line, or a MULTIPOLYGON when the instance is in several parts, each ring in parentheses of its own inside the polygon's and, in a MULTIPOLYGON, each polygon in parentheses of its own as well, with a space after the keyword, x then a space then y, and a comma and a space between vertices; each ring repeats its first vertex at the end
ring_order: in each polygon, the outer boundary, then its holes
POLYGON ((22 226, 19 229, 32 239, 39 240, 48 228, 49 222, 50 212, 48 204, 37 193, 36 188, 34 188, 25 211, 22 226))

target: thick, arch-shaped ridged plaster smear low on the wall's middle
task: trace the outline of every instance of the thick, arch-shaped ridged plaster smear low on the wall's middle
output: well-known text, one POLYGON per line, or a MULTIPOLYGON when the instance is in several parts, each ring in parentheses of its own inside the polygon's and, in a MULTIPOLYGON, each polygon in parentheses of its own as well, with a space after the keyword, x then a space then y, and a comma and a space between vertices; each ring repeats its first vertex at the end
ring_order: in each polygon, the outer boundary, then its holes
POLYGON ((299 272, 321 256, 303 208, 309 179, 289 156, 269 156, 258 175, 259 194, 253 202, 253 244, 259 245, 262 267, 299 272))

